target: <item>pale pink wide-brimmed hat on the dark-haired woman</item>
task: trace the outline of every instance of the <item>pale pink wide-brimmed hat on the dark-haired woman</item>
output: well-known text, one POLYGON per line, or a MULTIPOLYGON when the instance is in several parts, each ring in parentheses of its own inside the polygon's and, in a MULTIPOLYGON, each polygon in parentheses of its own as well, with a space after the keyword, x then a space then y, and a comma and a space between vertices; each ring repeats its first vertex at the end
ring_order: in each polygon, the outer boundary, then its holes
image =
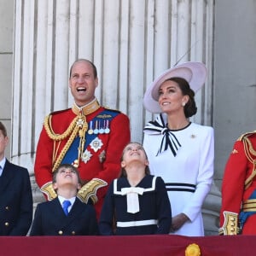
POLYGON ((160 85, 172 78, 185 79, 189 83, 190 89, 196 92, 206 81, 207 67, 202 62, 189 61, 166 70, 157 79, 154 79, 143 96, 143 106, 149 112, 161 113, 158 103, 160 85))

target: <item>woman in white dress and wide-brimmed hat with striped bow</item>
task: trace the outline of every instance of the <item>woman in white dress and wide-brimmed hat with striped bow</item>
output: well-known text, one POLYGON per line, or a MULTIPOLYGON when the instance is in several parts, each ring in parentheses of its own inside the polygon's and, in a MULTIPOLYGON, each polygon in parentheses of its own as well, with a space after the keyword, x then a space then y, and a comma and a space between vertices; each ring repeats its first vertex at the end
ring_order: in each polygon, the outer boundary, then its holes
POLYGON ((149 112, 159 113, 143 130, 143 147, 152 174, 166 183, 172 205, 170 234, 204 236, 201 207, 212 185, 213 129, 189 117, 196 113, 195 92, 206 76, 203 63, 183 63, 155 79, 143 98, 149 112))

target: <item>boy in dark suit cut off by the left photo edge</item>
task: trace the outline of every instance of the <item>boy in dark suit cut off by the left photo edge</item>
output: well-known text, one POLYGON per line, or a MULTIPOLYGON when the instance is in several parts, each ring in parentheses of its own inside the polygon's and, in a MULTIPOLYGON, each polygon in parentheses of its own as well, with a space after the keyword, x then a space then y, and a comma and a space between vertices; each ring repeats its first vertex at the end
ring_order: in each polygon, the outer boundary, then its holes
POLYGON ((0 236, 26 236, 32 223, 32 189, 26 168, 6 159, 9 142, 0 122, 0 236))

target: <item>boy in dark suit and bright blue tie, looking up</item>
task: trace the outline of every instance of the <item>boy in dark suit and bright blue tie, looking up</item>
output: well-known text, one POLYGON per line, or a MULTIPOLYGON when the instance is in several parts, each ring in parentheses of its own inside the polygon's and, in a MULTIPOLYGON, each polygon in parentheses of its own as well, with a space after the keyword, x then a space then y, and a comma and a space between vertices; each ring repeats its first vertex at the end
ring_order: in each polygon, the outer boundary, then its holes
POLYGON ((38 204, 30 236, 95 236, 98 225, 94 207, 77 197, 82 184, 76 167, 62 164, 53 172, 57 197, 38 204))

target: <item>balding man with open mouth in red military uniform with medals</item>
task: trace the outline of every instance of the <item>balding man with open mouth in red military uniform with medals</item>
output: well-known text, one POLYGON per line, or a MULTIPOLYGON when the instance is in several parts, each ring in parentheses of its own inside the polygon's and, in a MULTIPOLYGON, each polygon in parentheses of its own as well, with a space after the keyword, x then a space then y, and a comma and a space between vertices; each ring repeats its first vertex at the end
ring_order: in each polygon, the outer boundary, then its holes
POLYGON ((84 185, 78 197, 95 205, 97 217, 109 183, 119 176, 120 157, 130 142, 130 121, 124 113, 103 108, 96 100, 95 65, 84 59, 70 68, 73 108, 44 119, 34 166, 36 181, 48 200, 56 197, 52 172, 64 163, 78 167, 84 185))

